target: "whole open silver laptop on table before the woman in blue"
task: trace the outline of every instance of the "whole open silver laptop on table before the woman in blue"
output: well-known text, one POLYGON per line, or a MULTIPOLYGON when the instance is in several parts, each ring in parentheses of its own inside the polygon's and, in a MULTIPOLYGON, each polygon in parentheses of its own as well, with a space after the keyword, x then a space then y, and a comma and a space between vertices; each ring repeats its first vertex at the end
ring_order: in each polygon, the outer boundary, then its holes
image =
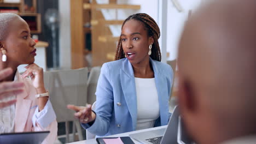
POLYGON ((132 137, 132 139, 135 139, 141 143, 148 143, 148 144, 177 143, 178 119, 179 119, 179 109, 178 109, 178 106, 176 106, 174 107, 174 110, 168 122, 167 128, 144 131, 141 133, 130 134, 129 136, 132 137))

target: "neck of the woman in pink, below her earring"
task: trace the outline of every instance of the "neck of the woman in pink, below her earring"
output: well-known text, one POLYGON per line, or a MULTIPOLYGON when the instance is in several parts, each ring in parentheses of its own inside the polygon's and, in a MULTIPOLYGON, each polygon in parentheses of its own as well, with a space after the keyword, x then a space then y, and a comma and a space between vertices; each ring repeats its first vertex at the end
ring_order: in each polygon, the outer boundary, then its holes
POLYGON ((8 63, 8 62, 0 62, 0 70, 6 69, 6 68, 11 68, 13 70, 13 73, 11 75, 9 75, 8 77, 5 77, 5 79, 3 79, 1 81, 13 81, 18 66, 19 65, 11 64, 11 63, 8 63))

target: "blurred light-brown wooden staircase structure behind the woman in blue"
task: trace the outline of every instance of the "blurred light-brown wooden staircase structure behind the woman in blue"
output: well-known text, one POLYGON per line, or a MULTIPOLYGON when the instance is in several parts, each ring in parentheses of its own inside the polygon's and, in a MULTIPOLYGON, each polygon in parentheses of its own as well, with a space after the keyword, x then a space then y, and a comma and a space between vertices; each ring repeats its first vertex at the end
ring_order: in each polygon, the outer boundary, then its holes
POLYGON ((88 66, 84 61, 84 55, 88 53, 92 54, 92 66, 112 61, 110 57, 113 57, 119 37, 112 35, 109 26, 122 25, 123 20, 105 20, 101 9, 138 10, 141 6, 117 4, 117 0, 109 0, 109 4, 97 4, 95 0, 91 3, 89 0, 70 0, 70 3, 72 68, 88 66), (91 28, 83 27, 86 22, 91 28), (91 33, 91 51, 85 50, 86 33, 91 33))

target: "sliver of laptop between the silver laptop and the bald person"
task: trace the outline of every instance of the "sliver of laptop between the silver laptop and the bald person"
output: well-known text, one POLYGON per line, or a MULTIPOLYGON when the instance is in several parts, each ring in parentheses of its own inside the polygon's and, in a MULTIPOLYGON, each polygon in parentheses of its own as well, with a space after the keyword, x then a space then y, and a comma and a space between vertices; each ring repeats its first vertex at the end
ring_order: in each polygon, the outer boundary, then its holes
POLYGON ((177 135, 178 144, 194 144, 194 141, 190 139, 187 131, 184 128, 181 116, 179 116, 178 122, 178 135, 177 135))

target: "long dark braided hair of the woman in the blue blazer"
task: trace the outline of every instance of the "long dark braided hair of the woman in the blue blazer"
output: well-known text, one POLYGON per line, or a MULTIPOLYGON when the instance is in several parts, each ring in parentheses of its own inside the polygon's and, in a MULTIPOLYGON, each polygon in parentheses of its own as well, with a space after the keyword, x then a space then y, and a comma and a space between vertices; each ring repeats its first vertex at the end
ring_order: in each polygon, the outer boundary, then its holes
MULTIPOLYGON (((123 29, 125 22, 127 22, 129 20, 141 21, 144 24, 146 30, 148 31, 148 36, 152 37, 154 39, 154 44, 152 45, 152 49, 151 49, 152 54, 150 55, 150 57, 152 59, 160 62, 161 61, 161 51, 160 51, 160 47, 159 47, 159 43, 158 43, 158 39, 160 37, 160 29, 159 29, 158 25, 156 24, 155 20, 152 19, 152 17, 150 17, 148 14, 144 14, 144 13, 134 14, 134 15, 127 17, 127 19, 123 22, 122 29, 123 29)), ((115 52, 115 61, 118 59, 124 58, 124 57, 125 57, 125 53, 124 53, 123 46, 121 43, 121 35, 120 35, 117 50, 115 52)))

